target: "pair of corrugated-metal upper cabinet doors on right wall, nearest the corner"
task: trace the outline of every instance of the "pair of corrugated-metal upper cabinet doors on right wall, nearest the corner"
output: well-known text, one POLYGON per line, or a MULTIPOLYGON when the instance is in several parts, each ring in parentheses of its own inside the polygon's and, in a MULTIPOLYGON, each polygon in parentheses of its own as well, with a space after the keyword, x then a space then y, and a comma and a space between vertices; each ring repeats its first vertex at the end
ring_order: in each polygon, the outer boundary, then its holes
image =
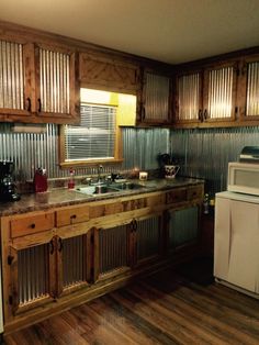
POLYGON ((230 62, 178 74, 174 122, 203 126, 234 121, 237 70, 237 64, 230 62))

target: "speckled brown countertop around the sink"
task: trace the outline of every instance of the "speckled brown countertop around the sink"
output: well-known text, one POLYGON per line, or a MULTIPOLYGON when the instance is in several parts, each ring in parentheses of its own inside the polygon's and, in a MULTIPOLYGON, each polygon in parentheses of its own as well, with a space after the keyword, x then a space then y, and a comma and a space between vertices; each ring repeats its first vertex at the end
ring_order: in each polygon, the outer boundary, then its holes
MULTIPOLYGON (((50 208, 80 204, 97 200, 106 200, 127 197, 131 194, 142 194, 158 190, 168 190, 177 187, 193 186, 203 183, 202 179, 178 177, 173 180, 154 179, 147 181, 131 180, 131 182, 142 183, 144 188, 134 190, 122 190, 97 196, 88 196, 82 192, 69 190, 67 188, 57 188, 43 193, 22 194, 21 200, 14 202, 0 203, 0 216, 18 213, 25 213, 38 210, 48 210, 50 208)), ((76 186, 77 188, 77 186, 76 186)))

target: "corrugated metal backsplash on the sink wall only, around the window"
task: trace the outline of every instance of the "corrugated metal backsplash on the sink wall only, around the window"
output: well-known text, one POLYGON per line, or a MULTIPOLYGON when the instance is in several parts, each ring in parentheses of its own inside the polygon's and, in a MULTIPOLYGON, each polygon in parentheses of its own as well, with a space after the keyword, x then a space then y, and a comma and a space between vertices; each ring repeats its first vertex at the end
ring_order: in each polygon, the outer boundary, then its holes
MULTIPOLYGON (((13 133, 12 125, 0 123, 0 160, 13 160, 15 180, 25 181, 34 176, 35 168, 46 167, 49 178, 67 177, 68 170, 61 170, 58 162, 58 125, 47 124, 46 132, 13 133)), ((123 129, 122 165, 106 166, 103 172, 130 171, 158 168, 158 152, 168 152, 170 132, 166 129, 123 129)), ((98 168, 80 168, 76 175, 98 174, 98 168)))

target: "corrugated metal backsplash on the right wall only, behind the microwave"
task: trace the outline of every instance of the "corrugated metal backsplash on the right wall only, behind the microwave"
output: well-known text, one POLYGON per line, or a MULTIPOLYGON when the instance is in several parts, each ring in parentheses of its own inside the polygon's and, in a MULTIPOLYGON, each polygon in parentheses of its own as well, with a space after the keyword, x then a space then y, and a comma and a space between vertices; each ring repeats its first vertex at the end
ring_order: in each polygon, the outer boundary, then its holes
POLYGON ((181 175, 205 178, 212 193, 226 190, 228 162, 238 160, 244 146, 258 144, 259 127, 171 131, 171 153, 180 157, 181 175))

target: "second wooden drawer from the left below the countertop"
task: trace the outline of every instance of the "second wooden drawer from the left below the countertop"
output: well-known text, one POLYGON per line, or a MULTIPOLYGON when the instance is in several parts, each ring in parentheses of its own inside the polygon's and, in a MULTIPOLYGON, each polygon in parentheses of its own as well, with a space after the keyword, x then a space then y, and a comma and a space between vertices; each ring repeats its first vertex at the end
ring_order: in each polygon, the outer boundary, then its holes
POLYGON ((89 220, 89 207, 77 205, 56 211, 56 225, 65 226, 87 222, 89 220))

